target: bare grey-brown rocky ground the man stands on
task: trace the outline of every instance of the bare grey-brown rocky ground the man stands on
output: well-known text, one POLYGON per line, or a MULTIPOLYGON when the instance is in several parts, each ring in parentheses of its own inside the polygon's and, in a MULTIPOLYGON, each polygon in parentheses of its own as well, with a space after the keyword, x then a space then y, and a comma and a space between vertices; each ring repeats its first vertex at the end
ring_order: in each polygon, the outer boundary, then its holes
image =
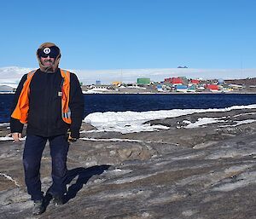
MULTIPOLYGON (((255 118, 255 109, 204 112, 148 122, 169 130, 84 132, 68 153, 65 205, 49 203, 41 216, 31 215, 26 194, 24 141, 0 141, 0 218, 256 218, 255 118), (219 122, 187 129, 201 118, 219 122)), ((45 192, 48 146, 41 178, 45 192)))

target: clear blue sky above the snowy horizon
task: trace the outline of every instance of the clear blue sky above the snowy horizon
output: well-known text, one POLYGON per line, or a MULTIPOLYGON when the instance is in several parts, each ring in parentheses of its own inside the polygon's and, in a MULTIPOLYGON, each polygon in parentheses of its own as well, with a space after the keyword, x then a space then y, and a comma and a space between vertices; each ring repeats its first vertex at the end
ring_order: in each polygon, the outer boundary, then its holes
POLYGON ((255 0, 1 2, 0 66, 35 67, 54 42, 68 69, 256 68, 255 0))

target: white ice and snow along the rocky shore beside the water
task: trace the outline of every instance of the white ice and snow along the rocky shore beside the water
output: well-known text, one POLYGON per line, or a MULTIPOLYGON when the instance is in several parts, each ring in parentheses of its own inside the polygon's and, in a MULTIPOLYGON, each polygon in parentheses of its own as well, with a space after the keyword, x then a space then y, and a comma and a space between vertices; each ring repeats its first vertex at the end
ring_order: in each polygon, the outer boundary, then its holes
MULTIPOLYGON (((145 122, 154 119, 175 118, 179 116, 189 115, 196 112, 229 112, 236 109, 253 109, 256 108, 256 104, 247 106, 233 106, 227 108, 216 109, 172 109, 172 110, 160 110, 160 111, 148 111, 148 112, 94 112, 90 113, 84 118, 84 122, 96 127, 97 130, 92 131, 117 131, 120 133, 131 133, 141 131, 155 131, 169 129, 163 125, 150 125, 145 122)), ((196 128, 204 124, 212 124, 224 122, 224 118, 201 118, 194 124, 187 121, 186 128, 196 128)), ((237 122, 236 125, 252 123, 255 120, 251 119, 246 122, 237 122)))

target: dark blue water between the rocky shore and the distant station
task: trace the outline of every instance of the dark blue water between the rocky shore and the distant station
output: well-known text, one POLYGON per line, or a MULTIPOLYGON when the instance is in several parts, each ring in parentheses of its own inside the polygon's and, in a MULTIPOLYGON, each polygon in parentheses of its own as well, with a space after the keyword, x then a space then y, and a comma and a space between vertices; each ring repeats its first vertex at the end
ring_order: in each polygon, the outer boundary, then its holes
MULTIPOLYGON (((0 95, 0 123, 9 122, 14 95, 0 95)), ((157 94, 84 95, 84 117, 91 112, 124 112, 168 109, 207 109, 256 104, 256 95, 244 94, 157 94)))

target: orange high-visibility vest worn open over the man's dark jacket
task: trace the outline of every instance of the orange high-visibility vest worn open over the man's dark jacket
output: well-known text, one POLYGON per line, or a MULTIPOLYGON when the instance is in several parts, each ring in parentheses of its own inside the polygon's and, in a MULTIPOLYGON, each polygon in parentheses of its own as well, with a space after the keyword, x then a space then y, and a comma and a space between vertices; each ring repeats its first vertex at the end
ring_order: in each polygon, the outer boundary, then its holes
MULTIPOLYGON (((29 72, 23 88, 20 92, 20 97, 15 107, 14 112, 11 117, 20 120, 20 123, 27 123, 27 115, 29 110, 29 85, 31 83, 32 77, 34 76, 36 70, 29 72)), ((63 83, 61 84, 61 117, 63 121, 67 124, 71 124, 71 111, 68 107, 69 103, 69 93, 70 93, 70 72, 61 69, 61 77, 63 78, 63 83)))

